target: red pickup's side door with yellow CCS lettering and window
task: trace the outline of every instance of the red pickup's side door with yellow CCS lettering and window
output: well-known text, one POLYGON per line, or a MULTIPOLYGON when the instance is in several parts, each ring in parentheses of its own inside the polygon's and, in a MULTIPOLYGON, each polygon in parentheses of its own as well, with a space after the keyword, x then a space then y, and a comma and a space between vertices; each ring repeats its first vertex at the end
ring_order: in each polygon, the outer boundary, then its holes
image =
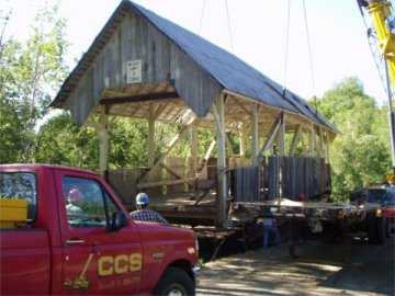
POLYGON ((133 294, 143 266, 137 226, 128 221, 117 231, 109 230, 110 217, 120 207, 94 175, 57 172, 56 180, 64 293, 133 294))

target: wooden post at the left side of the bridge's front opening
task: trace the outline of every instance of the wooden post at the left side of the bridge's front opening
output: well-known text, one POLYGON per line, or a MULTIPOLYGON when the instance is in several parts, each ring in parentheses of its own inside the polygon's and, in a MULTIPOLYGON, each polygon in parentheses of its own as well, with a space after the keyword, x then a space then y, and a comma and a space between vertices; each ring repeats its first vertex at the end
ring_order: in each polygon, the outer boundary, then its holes
POLYGON ((110 139, 109 139, 109 106, 103 106, 100 114, 100 123, 95 125, 97 133, 99 135, 99 170, 102 175, 109 169, 109 151, 110 151, 110 139))

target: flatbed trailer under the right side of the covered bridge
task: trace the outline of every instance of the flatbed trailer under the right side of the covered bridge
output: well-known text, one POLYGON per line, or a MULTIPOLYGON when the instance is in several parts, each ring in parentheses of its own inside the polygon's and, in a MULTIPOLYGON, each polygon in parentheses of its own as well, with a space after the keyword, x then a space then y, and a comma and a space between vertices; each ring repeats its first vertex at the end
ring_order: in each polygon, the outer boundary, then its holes
MULTIPOLYGON (((238 212, 248 213, 247 216, 263 216, 270 213, 281 224, 284 220, 301 219, 308 224, 313 232, 321 232, 336 237, 345 232, 365 232, 372 243, 384 243, 388 236, 388 223, 382 216, 382 207, 375 203, 329 203, 329 202, 298 202, 287 198, 276 198, 260 203, 235 203, 234 216, 238 212)), ((237 218, 236 218, 237 219, 237 218)), ((298 224, 291 223, 293 228, 298 224)), ((296 229, 297 230, 297 229, 296 229)))

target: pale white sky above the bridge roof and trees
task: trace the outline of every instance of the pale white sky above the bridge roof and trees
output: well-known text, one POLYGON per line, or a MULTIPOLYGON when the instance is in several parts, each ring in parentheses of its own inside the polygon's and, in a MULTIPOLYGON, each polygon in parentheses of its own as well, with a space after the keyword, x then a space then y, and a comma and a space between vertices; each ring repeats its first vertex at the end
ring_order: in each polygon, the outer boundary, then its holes
MULTIPOLYGON (((25 39, 35 12, 48 1, 0 0, 0 8, 3 3, 13 9, 7 34, 25 39)), ((66 38, 71 44, 67 59, 70 69, 88 49, 120 1, 60 0, 59 13, 67 20, 66 38)), ((226 0, 135 2, 232 52, 305 99, 320 96, 341 79, 357 76, 365 92, 374 96, 379 104, 386 102, 357 0, 305 0, 314 83, 303 0, 227 0, 229 19, 226 0), (285 67, 289 2, 289 55, 285 67)))

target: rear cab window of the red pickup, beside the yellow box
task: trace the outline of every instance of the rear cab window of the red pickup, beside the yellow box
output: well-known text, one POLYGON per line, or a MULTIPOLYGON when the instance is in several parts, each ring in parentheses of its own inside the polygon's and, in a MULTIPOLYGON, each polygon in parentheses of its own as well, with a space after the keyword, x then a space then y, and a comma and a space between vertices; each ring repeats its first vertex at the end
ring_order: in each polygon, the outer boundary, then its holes
POLYGON ((31 172, 0 172, 0 198, 21 198, 27 202, 27 220, 36 212, 36 177, 31 172))

